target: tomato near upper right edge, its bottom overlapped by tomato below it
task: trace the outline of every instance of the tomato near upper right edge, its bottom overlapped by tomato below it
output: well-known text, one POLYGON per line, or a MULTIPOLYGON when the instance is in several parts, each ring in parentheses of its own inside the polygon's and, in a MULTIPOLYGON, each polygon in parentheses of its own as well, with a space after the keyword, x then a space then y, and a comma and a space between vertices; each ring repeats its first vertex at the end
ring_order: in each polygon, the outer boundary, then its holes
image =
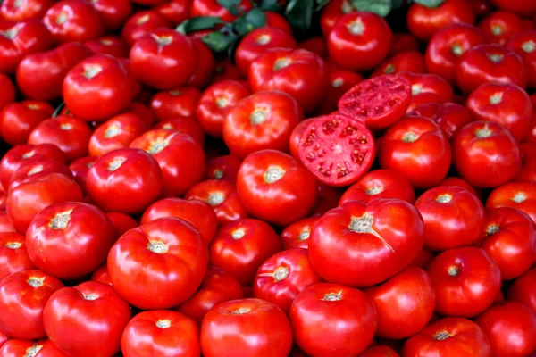
POLYGON ((456 62, 456 84, 465 94, 487 82, 513 83, 524 88, 526 77, 521 56, 504 46, 473 46, 456 62))

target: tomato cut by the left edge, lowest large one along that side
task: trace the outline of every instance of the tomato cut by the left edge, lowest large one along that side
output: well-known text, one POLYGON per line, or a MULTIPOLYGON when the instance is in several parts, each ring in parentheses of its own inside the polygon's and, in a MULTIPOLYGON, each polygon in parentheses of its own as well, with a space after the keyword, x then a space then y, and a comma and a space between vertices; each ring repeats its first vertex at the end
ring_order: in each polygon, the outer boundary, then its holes
POLYGON ((0 282, 0 328, 24 340, 46 337, 43 309, 63 284, 39 270, 14 273, 0 282), (13 323, 17 321, 18 323, 13 323))

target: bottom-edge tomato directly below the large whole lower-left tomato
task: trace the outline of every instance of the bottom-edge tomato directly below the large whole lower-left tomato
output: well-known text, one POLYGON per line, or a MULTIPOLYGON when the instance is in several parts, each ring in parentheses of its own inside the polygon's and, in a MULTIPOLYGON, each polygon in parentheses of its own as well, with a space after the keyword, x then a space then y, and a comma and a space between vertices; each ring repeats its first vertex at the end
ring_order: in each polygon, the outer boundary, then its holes
POLYGON ((121 352, 125 357, 197 356, 201 353, 199 328, 193 320, 176 311, 144 311, 125 327, 121 352))

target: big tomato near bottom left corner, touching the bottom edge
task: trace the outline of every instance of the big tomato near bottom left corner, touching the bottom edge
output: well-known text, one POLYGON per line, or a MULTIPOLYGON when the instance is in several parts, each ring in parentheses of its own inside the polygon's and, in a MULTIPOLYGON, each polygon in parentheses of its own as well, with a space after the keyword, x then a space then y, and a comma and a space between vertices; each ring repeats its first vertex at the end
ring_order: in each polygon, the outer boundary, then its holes
POLYGON ((46 303, 43 320, 46 335, 63 353, 105 357, 119 352, 131 314, 112 286, 88 281, 57 290, 46 303), (69 333, 71 328, 80 335, 69 333))

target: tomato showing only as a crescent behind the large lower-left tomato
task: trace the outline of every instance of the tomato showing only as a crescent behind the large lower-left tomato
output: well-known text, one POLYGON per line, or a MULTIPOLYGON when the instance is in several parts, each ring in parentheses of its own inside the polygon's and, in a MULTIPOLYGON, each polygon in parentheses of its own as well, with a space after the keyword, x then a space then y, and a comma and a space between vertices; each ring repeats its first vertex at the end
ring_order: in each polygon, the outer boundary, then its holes
POLYGON ((188 201, 180 198, 164 198, 151 204, 141 217, 146 224, 163 217, 176 217, 186 220, 197 228, 206 245, 210 245, 218 230, 218 220, 210 204, 203 201, 188 201))

